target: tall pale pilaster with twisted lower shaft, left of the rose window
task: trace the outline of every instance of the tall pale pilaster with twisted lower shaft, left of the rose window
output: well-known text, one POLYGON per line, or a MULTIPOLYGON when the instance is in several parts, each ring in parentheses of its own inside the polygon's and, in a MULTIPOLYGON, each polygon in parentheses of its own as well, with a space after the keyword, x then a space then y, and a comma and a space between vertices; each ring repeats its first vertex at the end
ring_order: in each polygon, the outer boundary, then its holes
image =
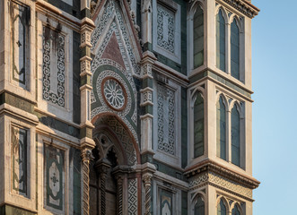
MULTIPOLYGON (((82 7, 87 8, 89 0, 81 1, 82 7)), ((87 13, 84 14, 81 25, 81 125, 80 125, 80 137, 81 137, 81 151, 83 162, 83 215, 89 215, 89 164, 92 157, 92 148, 95 146, 95 142, 92 140, 91 123, 91 33, 94 29, 94 24, 87 13)))

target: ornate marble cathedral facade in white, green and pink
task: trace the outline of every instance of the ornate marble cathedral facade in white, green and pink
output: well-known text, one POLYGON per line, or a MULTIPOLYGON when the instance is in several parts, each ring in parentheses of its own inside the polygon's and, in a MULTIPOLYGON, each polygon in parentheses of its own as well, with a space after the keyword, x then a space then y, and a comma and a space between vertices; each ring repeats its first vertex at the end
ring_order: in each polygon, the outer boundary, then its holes
POLYGON ((250 0, 0 12, 0 214, 252 214, 250 0))

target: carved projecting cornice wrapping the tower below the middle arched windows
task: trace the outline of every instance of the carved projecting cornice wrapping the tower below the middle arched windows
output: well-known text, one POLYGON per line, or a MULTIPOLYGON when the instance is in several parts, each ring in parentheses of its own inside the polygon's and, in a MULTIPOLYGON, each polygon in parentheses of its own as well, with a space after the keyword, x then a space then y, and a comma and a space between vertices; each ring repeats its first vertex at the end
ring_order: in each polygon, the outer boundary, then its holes
POLYGON ((242 174, 232 171, 229 168, 225 168, 213 160, 206 160, 196 167, 186 169, 185 176, 191 178, 203 172, 211 172, 218 176, 223 176, 240 185, 244 185, 249 189, 256 189, 260 182, 253 177, 243 176, 242 174))

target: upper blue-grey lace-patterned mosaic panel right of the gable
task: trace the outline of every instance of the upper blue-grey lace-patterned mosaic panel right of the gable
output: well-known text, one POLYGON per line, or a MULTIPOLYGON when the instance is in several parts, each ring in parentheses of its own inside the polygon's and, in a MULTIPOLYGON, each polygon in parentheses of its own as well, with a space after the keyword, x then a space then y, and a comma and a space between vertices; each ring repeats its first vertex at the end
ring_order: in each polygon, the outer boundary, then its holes
POLYGON ((157 5, 157 44, 174 53, 175 13, 157 5))

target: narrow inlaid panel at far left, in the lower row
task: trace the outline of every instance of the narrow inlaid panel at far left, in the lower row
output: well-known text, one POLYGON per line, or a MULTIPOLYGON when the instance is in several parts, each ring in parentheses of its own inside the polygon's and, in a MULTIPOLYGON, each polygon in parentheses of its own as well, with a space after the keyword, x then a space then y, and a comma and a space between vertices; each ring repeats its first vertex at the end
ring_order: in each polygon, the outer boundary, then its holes
POLYGON ((27 194, 27 131, 12 127, 13 192, 27 194))

